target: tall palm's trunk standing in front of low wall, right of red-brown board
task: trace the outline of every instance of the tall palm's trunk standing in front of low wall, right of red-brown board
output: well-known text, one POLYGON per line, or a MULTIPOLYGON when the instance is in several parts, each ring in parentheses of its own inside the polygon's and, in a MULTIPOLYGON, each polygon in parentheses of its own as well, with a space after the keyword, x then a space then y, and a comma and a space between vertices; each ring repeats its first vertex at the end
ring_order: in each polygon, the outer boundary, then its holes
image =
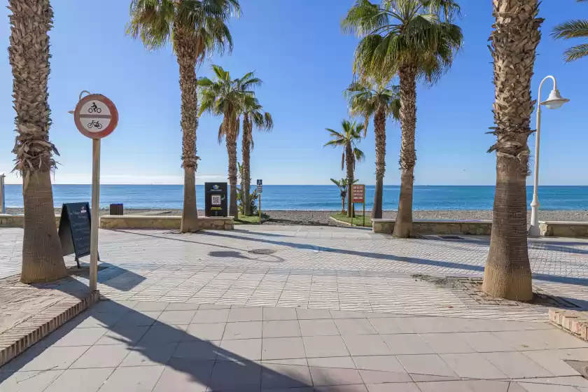
POLYGON ((398 70, 400 79, 400 127, 402 141, 400 146, 400 197, 398 214, 394 224, 393 236, 409 238, 412 235, 412 190, 414 186, 414 165, 416 150, 414 134, 416 132, 416 67, 401 66, 398 70))

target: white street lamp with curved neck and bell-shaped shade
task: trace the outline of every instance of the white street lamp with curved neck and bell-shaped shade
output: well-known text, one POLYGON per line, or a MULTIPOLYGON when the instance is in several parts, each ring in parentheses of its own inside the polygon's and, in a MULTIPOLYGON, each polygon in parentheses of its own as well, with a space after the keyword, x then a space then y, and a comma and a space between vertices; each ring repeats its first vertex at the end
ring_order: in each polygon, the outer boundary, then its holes
POLYGON ((541 234, 539 230, 539 200, 537 197, 537 188, 539 184, 539 141, 541 137, 541 105, 547 106, 547 109, 559 109, 566 102, 570 102, 569 99, 561 97, 559 90, 557 90, 557 81, 553 76, 547 76, 541 80, 539 85, 539 104, 537 105, 537 138, 535 139, 535 179, 533 181, 533 201, 531 202, 531 225, 528 228, 528 235, 531 237, 537 237, 541 234), (541 87, 547 79, 553 80, 553 90, 549 94, 549 98, 546 101, 541 102, 541 87))

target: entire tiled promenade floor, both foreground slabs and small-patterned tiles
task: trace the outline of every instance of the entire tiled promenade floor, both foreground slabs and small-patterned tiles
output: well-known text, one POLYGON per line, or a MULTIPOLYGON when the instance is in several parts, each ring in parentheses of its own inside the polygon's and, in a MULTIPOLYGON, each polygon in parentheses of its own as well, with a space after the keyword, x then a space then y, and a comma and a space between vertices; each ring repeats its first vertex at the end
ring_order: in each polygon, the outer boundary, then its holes
MULTIPOLYGON (((588 343, 546 323, 546 307, 477 304, 412 277, 482 276, 486 238, 100 236, 110 301, 0 367, 0 392, 588 392, 564 362, 588 360, 588 343)), ((21 239, 0 229, 0 277, 18 272, 21 239)), ((535 286, 584 306, 587 255, 588 241, 531 240, 535 286)), ((85 288, 72 277, 55 290, 85 288)))

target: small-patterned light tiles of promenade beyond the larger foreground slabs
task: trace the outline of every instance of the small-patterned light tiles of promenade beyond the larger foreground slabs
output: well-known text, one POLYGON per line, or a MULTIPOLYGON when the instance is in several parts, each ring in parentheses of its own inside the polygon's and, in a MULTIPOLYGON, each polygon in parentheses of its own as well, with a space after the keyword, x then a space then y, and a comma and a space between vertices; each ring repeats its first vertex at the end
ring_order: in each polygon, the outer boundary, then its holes
MULTIPOLYGON (((112 300, 547 318, 545 307, 477 304, 412 277, 482 276, 487 237, 399 240, 350 228, 241 228, 197 235, 101 230, 100 255, 111 266, 104 272, 115 277, 101 279, 99 290, 112 300), (255 249, 274 253, 250 253, 255 249)), ((21 238, 20 229, 0 230, 0 277, 18 272, 21 238)), ((530 239, 530 257, 535 286, 588 303, 588 240, 530 239)))

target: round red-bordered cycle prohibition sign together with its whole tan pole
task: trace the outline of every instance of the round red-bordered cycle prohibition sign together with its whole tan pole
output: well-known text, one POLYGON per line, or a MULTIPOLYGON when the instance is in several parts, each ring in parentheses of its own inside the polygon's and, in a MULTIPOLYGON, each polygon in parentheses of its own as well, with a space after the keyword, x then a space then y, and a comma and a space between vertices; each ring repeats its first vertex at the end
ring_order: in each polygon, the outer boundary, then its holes
POLYGON ((100 204, 100 139, 109 136, 118 125, 118 111, 113 102, 102 94, 83 91, 73 111, 76 127, 85 137, 92 139, 92 212, 90 221, 90 290, 97 288, 98 228, 100 204), (82 98, 82 94, 88 95, 82 98))

